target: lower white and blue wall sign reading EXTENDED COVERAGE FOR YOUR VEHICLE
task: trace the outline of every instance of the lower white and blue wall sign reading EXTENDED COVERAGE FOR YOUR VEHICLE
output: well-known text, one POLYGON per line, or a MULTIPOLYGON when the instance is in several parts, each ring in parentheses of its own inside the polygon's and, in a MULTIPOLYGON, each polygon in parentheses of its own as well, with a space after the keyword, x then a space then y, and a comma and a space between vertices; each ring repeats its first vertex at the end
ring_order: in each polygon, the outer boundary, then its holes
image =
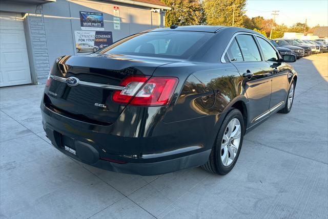
POLYGON ((113 36, 110 31, 76 30, 74 33, 77 53, 96 52, 113 43, 113 36))

